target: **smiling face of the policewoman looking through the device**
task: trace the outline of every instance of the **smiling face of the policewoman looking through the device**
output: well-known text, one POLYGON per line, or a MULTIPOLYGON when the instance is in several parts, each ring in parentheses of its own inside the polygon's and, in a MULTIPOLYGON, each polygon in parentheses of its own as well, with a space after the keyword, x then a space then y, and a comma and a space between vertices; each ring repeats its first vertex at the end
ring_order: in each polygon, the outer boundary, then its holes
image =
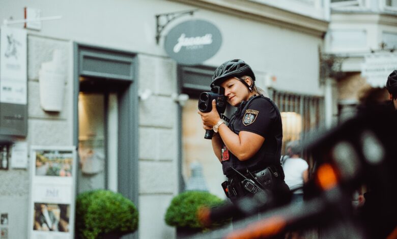
POLYGON ((241 101, 248 100, 251 94, 248 88, 237 78, 229 78, 220 84, 224 88, 224 95, 228 97, 228 103, 238 106, 241 101))

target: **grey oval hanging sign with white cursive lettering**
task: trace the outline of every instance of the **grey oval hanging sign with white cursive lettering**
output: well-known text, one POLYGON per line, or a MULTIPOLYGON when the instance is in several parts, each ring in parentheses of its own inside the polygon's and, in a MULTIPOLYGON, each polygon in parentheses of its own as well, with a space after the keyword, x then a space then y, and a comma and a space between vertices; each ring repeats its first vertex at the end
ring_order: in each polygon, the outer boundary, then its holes
POLYGON ((211 58, 222 44, 219 29, 211 22, 189 20, 172 28, 164 41, 169 57, 182 65, 197 65, 211 58))

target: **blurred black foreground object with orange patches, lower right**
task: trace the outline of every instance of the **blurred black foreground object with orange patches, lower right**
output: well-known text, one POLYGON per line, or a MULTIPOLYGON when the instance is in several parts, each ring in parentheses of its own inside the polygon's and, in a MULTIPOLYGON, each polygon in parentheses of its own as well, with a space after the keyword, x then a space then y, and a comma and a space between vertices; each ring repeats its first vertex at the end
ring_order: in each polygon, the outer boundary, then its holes
POLYGON ((374 107, 342 125, 305 141, 316 161, 315 173, 304 185, 305 201, 272 207, 273 197, 245 198, 240 204, 212 208, 204 222, 233 216, 245 220, 192 238, 272 238, 289 231, 318 228, 322 238, 396 238, 397 205, 396 111, 374 107), (361 185, 370 192, 366 205, 355 208, 352 194, 361 185), (256 214, 256 207, 262 214, 256 214), (248 222, 248 223, 247 223, 248 222))

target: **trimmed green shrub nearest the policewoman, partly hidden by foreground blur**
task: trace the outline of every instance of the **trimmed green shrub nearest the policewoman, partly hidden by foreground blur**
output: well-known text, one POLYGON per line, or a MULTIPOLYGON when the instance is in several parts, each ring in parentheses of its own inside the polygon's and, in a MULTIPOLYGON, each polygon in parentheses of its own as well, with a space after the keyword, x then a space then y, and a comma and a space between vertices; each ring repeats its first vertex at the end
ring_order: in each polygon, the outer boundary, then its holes
MULTIPOLYGON (((165 213, 165 223, 178 228, 205 229, 197 218, 197 210, 202 206, 212 207, 220 205, 222 199, 208 192, 186 191, 173 198, 165 213)), ((216 227, 224 224, 213 224, 216 227)))

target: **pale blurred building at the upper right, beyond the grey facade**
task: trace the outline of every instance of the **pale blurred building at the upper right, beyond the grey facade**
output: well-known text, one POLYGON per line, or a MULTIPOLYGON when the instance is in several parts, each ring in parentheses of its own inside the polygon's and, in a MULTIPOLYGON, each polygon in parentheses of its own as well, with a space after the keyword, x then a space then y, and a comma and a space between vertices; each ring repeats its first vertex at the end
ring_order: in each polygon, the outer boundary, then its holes
POLYGON ((354 113, 366 89, 384 87, 397 68, 397 2, 335 0, 330 6, 325 53, 337 59, 334 115, 344 119, 354 113))

